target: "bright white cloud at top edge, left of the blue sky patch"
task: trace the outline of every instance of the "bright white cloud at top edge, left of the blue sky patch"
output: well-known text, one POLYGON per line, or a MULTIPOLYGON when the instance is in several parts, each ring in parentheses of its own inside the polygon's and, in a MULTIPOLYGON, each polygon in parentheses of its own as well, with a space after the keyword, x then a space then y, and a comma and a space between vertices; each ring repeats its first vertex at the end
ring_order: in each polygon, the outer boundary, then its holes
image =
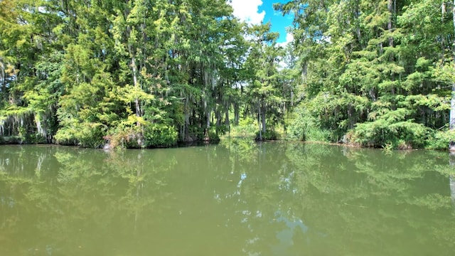
POLYGON ((259 11, 262 0, 232 0, 230 3, 234 9, 234 16, 248 24, 259 24, 264 20, 265 11, 259 11))

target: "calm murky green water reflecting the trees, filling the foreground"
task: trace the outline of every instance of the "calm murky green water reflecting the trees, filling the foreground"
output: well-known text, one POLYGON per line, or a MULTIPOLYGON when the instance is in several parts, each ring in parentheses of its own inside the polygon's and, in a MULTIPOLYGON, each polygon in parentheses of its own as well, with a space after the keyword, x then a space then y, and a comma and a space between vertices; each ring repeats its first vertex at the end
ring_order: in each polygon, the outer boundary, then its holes
POLYGON ((454 174, 439 151, 5 145, 0 255, 454 255, 454 174))

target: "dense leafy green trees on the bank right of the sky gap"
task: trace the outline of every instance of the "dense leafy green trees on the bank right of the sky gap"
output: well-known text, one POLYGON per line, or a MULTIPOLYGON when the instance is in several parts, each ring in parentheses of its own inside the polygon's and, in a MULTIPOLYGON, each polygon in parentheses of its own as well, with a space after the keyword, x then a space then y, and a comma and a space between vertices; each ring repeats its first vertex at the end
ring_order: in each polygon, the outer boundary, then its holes
POLYGON ((295 79, 301 103, 294 134, 366 146, 446 149, 454 139, 447 132, 455 82, 454 4, 276 4, 295 16, 295 79))

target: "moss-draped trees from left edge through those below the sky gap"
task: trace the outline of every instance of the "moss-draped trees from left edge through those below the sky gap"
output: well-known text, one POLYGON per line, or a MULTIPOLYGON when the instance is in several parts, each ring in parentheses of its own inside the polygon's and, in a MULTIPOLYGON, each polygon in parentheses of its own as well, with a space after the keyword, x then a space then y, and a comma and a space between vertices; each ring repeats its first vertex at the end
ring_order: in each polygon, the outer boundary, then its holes
POLYGON ((0 6, 2 137, 171 146, 217 139, 240 110, 265 130, 283 107, 277 33, 246 26, 225 0, 0 6))

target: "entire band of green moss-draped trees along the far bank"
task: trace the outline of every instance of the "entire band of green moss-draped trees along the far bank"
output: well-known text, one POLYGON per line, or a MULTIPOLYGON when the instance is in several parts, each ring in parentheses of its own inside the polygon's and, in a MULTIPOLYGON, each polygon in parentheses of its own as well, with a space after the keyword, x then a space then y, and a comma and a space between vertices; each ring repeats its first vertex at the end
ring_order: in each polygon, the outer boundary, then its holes
POLYGON ((228 2, 0 0, 0 144, 455 141, 455 1, 274 4, 287 46, 228 2))

